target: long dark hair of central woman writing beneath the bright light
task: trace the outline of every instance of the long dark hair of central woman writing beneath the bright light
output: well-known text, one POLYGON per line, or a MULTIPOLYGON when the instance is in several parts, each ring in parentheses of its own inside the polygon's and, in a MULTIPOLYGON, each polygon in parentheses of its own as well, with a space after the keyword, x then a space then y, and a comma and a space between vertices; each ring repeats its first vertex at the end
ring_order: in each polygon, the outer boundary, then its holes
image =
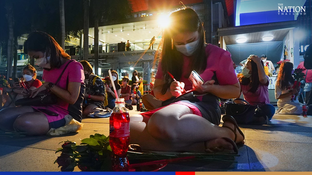
MULTIPOLYGON (((161 53, 161 68, 163 70, 163 88, 162 94, 167 92, 167 89, 170 87, 172 78, 168 75, 168 71, 175 77, 177 81, 181 79, 182 70, 183 70, 183 55, 178 52, 176 47, 173 44, 172 37, 177 33, 184 32, 196 32, 199 33, 199 42, 192 61, 190 65, 189 73, 191 74, 192 70, 202 73, 207 66, 207 55, 205 54, 205 31, 202 21, 199 19, 197 13, 191 8, 184 8, 173 12, 169 16, 170 27, 165 29, 163 33, 162 41, 162 53, 161 53)), ((158 54, 156 54, 158 55, 158 54)))

